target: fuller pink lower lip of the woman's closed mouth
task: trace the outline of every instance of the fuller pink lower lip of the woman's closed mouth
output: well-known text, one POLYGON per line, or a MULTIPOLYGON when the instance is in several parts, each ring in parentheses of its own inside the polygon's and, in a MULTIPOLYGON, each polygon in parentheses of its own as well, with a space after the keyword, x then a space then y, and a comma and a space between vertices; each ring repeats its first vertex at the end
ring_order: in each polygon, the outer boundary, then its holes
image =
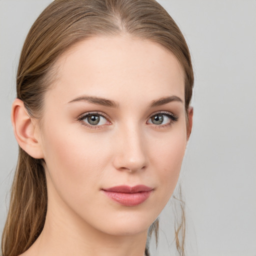
POLYGON ((144 202, 151 191, 142 191, 137 193, 121 193, 102 190, 108 197, 125 206, 136 206, 144 202))

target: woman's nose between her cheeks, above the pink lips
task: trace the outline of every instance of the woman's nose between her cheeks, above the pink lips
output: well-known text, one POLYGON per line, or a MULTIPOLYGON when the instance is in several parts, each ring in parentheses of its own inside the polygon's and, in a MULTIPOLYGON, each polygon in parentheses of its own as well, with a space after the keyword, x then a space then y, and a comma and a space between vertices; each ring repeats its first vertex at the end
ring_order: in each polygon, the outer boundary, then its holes
POLYGON ((139 127, 121 128, 115 145, 113 165, 116 169, 135 172, 147 166, 146 143, 139 127))

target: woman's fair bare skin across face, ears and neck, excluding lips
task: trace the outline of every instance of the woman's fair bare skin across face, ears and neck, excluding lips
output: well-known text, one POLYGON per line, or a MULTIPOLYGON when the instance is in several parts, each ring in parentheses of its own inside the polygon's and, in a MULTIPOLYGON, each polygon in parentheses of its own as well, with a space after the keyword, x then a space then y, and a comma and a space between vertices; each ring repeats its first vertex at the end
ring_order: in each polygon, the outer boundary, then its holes
POLYGON ((12 106, 19 145, 45 160, 48 192, 44 228, 22 255, 143 256, 147 229, 174 190, 190 134, 182 67, 163 46, 128 35, 81 41, 56 65, 40 125, 21 100, 12 106), (151 190, 136 205, 104 193, 138 184, 151 190))

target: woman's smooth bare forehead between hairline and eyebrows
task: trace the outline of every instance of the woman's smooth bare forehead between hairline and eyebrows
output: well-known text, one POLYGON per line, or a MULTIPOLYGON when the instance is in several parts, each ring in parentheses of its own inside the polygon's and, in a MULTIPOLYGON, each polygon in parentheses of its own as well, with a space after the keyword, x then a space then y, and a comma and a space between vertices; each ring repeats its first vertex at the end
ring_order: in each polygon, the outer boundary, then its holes
POLYGON ((92 37, 67 50, 56 66, 58 79, 49 92, 64 101, 85 93, 114 100, 175 94, 184 100, 181 65, 171 51, 150 40, 92 37))

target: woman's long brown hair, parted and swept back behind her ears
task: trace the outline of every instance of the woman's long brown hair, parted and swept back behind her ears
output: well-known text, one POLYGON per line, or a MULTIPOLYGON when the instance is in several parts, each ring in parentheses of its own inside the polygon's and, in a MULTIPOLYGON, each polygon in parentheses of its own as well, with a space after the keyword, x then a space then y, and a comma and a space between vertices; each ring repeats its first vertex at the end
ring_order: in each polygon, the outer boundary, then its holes
MULTIPOLYGON (((187 112, 193 87, 189 50, 176 23, 155 0, 55 0, 46 7, 28 32, 17 70, 17 98, 24 102, 27 112, 40 118, 44 92, 55 78, 54 63, 64 51, 91 36, 121 33, 149 39, 173 52, 184 71, 187 112)), ((19 147, 2 234, 4 256, 27 250, 43 228, 47 187, 42 161, 19 147)), ((181 219, 175 229, 176 247, 184 255, 183 213, 181 219)), ((153 230, 157 237, 157 221, 149 235, 153 230)), ((145 252, 148 254, 148 248, 145 252)))

